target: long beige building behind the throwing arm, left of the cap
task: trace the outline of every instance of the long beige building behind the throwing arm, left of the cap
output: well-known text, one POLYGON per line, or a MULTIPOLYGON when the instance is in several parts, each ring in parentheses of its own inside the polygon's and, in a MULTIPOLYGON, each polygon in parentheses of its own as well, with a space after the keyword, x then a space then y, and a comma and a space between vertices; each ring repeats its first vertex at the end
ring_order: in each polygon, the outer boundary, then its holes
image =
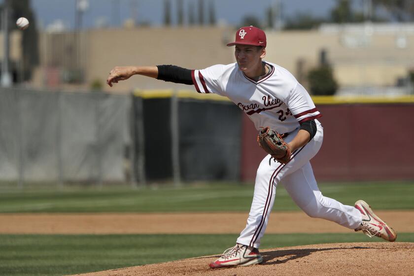
POLYGON ((203 68, 218 62, 231 63, 232 49, 223 42, 227 41, 224 37, 227 32, 230 31, 220 28, 133 28, 89 30, 77 37, 73 33, 42 33, 42 66, 33 84, 56 85, 57 71, 61 74, 80 71, 83 89, 89 89, 94 82, 114 92, 130 92, 135 88, 188 89, 186 85, 137 76, 113 88, 107 87, 105 81, 114 66, 174 64, 203 68))

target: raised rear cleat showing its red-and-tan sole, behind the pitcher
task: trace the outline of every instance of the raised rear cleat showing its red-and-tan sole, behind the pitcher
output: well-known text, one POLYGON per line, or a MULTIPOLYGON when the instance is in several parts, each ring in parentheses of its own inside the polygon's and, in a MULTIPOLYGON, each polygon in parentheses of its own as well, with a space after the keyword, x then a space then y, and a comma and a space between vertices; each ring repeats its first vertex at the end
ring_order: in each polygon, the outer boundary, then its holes
POLYGON ((355 208, 362 214, 362 223, 355 231, 362 231, 370 238, 376 236, 389 242, 397 239, 397 232, 383 222, 365 201, 355 202, 355 208))

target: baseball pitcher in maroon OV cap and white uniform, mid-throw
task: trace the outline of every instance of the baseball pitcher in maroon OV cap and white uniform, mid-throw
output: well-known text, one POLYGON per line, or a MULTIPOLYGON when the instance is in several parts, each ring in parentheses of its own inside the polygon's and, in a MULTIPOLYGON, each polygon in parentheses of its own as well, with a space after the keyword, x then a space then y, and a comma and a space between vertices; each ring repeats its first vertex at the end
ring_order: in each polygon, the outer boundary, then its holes
POLYGON ((266 35, 253 26, 236 32, 236 63, 206 69, 172 65, 115 67, 107 84, 144 75, 194 85, 198 93, 225 96, 239 106, 259 131, 258 144, 268 155, 257 170, 253 202, 236 245, 224 251, 210 268, 248 266, 263 262, 260 240, 275 202, 276 187, 283 184, 293 201, 309 216, 327 219, 346 228, 393 242, 396 232, 362 200, 355 206, 324 197, 319 191, 310 160, 319 151, 322 116, 306 89, 286 69, 263 59, 266 35))

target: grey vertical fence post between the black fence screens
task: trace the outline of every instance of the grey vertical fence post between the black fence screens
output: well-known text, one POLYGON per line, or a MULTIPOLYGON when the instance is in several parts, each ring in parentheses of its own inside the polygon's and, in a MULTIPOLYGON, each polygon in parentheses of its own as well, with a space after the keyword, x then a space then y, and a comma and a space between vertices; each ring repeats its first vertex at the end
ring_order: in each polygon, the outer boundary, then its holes
POLYGON ((177 91, 173 91, 171 97, 171 150, 172 150, 172 164, 173 164, 173 179, 174 186, 179 186, 181 182, 180 177, 180 156, 179 156, 179 124, 178 124, 178 97, 177 91))

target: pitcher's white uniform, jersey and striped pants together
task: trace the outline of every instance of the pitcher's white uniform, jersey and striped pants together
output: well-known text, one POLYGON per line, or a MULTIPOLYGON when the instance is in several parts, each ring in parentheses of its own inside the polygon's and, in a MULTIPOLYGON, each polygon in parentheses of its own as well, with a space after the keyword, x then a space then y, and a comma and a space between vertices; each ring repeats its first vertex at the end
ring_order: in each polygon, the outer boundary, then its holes
POLYGON ((266 64, 271 71, 259 81, 246 77, 237 63, 191 71, 197 92, 229 98, 247 114, 257 130, 260 126, 270 126, 278 133, 288 133, 284 140, 289 142, 298 133, 299 123, 314 119, 317 126, 316 135, 305 146, 294 151, 286 165, 274 161, 270 155, 262 160, 256 174, 247 224, 237 242, 259 248, 279 182, 309 216, 356 229, 361 224, 361 213, 355 207, 324 197, 313 176, 309 160, 322 144, 323 128, 317 120, 322 115, 306 89, 289 71, 276 64, 266 64))

